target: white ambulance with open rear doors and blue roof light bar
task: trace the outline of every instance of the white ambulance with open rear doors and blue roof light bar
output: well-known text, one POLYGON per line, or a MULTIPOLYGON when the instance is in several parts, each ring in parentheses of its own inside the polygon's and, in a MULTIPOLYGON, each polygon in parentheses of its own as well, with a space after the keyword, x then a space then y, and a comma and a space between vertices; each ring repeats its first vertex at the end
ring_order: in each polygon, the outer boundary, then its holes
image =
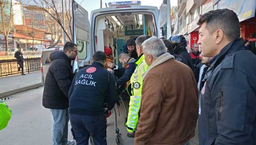
MULTIPOLYGON (((111 46, 117 64, 122 46, 130 38, 140 35, 162 37, 162 27, 170 26, 170 0, 164 0, 161 12, 157 7, 140 6, 140 1, 110 2, 108 8, 88 12, 77 2, 72 1, 73 40, 77 44, 78 63, 73 70, 91 64, 95 51, 104 51, 104 46, 111 46), (150 29, 150 31, 149 31, 150 29)), ((167 31, 167 38, 171 30, 167 31)))

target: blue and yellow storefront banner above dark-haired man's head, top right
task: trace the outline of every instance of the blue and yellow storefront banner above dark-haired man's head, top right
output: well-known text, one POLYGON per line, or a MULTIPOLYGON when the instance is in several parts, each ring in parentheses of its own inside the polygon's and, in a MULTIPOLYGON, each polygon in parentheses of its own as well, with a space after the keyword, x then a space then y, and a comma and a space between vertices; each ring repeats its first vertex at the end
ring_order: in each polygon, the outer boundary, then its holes
POLYGON ((217 9, 231 9, 238 15, 239 21, 254 17, 256 0, 220 0, 217 9))

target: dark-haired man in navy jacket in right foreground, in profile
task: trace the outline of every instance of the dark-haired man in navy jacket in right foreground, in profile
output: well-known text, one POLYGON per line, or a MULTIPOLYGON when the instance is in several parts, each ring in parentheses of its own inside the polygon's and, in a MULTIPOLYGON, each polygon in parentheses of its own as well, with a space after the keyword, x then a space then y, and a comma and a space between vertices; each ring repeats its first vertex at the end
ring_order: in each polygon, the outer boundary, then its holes
POLYGON ((201 55, 213 57, 201 81, 199 144, 256 144, 256 56, 243 47, 238 17, 211 10, 197 25, 201 55))

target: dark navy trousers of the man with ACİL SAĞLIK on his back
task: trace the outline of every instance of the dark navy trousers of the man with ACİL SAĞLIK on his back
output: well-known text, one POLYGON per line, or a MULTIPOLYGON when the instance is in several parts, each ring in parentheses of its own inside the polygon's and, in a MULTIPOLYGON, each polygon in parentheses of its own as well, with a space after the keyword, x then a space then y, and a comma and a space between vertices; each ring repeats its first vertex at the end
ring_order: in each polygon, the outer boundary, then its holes
POLYGON ((105 115, 84 116, 70 114, 70 123, 76 145, 88 145, 90 134, 95 145, 107 145, 107 124, 105 115))

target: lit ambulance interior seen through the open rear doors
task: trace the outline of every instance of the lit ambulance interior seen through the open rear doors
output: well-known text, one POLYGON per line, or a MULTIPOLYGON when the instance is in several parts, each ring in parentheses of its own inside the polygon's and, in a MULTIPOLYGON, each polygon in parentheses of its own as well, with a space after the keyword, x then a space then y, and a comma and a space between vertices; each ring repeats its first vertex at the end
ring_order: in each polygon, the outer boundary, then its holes
POLYGON ((117 64, 117 57, 122 53, 122 47, 128 39, 144 34, 156 36, 155 20, 151 13, 105 14, 96 17, 95 22, 95 50, 102 50, 104 46, 111 47, 112 57, 116 60, 115 64, 117 64))

